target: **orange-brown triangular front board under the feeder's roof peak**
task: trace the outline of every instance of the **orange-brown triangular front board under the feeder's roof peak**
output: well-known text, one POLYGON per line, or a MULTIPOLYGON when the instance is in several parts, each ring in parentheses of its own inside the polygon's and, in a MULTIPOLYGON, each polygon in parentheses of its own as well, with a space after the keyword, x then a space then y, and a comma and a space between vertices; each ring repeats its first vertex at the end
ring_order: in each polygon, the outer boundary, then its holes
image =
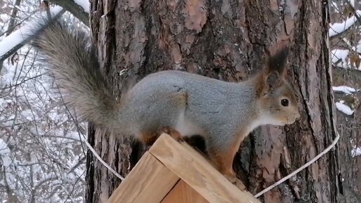
POLYGON ((209 203, 185 181, 180 180, 161 203, 209 203))

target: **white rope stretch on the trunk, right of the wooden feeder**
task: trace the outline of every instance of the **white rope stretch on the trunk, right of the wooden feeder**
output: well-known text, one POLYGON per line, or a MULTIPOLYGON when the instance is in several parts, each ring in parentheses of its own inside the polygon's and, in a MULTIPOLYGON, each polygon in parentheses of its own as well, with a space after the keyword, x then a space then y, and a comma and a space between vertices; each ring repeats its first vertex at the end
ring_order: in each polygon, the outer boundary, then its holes
POLYGON ((298 174, 299 172, 301 172, 303 169, 305 169, 306 167, 309 167, 309 165, 312 165, 313 162, 316 162, 320 157, 322 157, 323 155, 325 155, 325 153, 327 153, 328 151, 330 151, 336 144, 337 141, 339 141, 340 135, 339 133, 337 133, 337 137, 334 139, 334 141, 332 141, 332 144, 330 146, 328 146, 327 148, 325 148, 325 150, 318 154, 315 158, 313 158, 311 161, 307 162, 305 165, 303 165, 302 167, 299 167, 299 169, 295 170, 295 172, 292 172, 292 174, 289 174, 288 176, 285 176, 283 179, 277 181, 276 183, 274 183, 272 186, 269 186, 268 188, 262 190, 260 193, 257 193, 257 195, 255 195, 255 197, 260 197, 261 195, 263 195, 264 193, 267 193, 269 190, 271 190, 272 188, 278 186, 279 184, 283 183, 284 181, 287 181, 288 179, 290 179, 290 177, 295 176, 296 174, 298 174))

